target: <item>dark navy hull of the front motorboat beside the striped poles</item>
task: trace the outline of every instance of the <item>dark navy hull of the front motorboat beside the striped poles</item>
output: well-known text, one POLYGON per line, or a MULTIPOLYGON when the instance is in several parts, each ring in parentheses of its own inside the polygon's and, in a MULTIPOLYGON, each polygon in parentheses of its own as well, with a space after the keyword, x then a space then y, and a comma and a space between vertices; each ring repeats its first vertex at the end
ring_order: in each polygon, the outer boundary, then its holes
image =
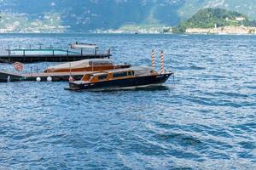
POLYGON ((131 77, 104 82, 69 82, 68 90, 90 90, 90 89, 109 89, 109 88, 129 88, 140 87, 154 84, 161 84, 168 80, 173 73, 165 73, 147 77, 131 77))

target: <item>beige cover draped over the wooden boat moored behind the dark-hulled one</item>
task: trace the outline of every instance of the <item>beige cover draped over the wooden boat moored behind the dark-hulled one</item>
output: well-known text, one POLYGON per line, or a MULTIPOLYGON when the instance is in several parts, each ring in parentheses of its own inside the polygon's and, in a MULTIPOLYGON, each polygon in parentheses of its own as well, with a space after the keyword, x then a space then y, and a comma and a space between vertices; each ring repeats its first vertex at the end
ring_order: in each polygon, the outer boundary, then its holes
POLYGON ((98 65, 113 65, 113 61, 111 59, 83 59, 79 61, 64 63, 61 65, 51 66, 47 68, 47 70, 57 71, 62 69, 79 69, 98 65))

